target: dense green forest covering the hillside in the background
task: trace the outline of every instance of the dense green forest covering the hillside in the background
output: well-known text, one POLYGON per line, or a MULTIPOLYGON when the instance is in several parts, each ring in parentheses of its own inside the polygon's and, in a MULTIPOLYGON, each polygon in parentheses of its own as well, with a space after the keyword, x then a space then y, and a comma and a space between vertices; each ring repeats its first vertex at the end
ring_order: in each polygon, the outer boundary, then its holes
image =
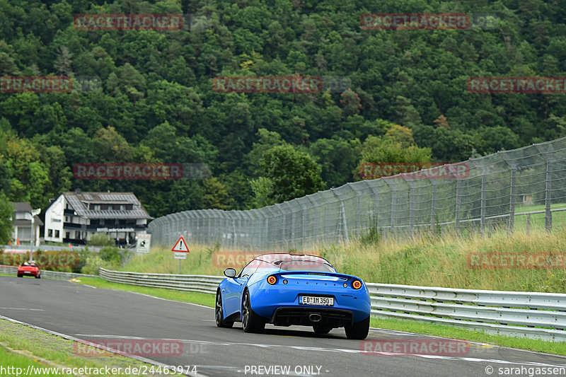
POLYGON ((364 162, 463 161, 566 136, 563 94, 470 93, 470 76, 566 76, 566 0, 0 0, 0 200, 131 191, 151 216, 251 209, 362 179, 364 162), (490 14, 466 30, 364 30, 363 13, 490 14), (88 13, 182 30, 78 30, 88 13), (218 76, 330 76, 318 93, 219 93, 218 76), (84 78, 88 80, 85 81, 84 78), (204 163, 202 180, 78 180, 76 163, 204 163))

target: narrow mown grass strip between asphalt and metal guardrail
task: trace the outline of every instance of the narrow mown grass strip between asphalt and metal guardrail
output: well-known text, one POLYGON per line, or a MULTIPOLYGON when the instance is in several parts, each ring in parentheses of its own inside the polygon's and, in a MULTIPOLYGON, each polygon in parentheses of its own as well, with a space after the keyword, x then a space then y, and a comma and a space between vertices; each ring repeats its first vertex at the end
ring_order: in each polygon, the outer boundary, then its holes
MULTIPOLYGON (((212 294, 200 294, 193 292, 174 291, 171 289, 112 283, 100 278, 81 278, 80 281, 77 282, 77 284, 88 284, 91 286, 96 286, 97 288, 117 289, 120 291, 134 291, 141 294, 168 298, 175 301, 199 303, 200 305, 214 308, 214 296, 212 294)), ((388 330, 399 330, 405 332, 415 332, 417 334, 435 335, 439 337, 449 337, 460 340, 470 340, 474 342, 483 342, 504 347, 529 349, 530 351, 534 352, 545 352, 548 354, 566 356, 566 342, 545 342, 543 340, 531 340, 516 337, 504 337, 501 335, 489 335, 481 331, 466 330, 446 325, 428 323, 425 324, 405 320, 383 320, 371 318, 371 326, 388 330)))

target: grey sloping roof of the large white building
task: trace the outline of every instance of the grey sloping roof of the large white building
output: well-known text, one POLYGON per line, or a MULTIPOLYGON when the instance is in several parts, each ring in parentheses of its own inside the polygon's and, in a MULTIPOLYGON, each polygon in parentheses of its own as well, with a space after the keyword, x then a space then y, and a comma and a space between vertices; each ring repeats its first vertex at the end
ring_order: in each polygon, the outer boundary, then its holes
POLYGON ((88 219, 153 219, 133 192, 63 192, 77 216, 88 219), (132 209, 89 209, 89 204, 132 204, 132 209))

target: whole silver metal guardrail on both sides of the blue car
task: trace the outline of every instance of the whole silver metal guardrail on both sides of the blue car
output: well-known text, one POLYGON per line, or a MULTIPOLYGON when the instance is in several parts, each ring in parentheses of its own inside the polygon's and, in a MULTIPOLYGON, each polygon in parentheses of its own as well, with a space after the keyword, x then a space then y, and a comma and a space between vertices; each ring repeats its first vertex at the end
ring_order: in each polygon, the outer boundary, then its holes
MULTIPOLYGON (((224 277, 145 274, 100 268, 110 282, 215 294, 224 277)), ((480 291, 367 283, 371 315, 566 342, 566 294, 480 291)))

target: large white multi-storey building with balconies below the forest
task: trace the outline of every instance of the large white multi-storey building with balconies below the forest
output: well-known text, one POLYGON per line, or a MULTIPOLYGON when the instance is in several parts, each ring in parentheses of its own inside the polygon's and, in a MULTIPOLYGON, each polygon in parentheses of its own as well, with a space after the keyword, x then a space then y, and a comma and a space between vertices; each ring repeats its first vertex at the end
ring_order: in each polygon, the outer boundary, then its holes
POLYGON ((120 245, 146 233, 151 216, 132 192, 63 192, 45 211, 45 241, 86 243, 106 233, 120 245))

